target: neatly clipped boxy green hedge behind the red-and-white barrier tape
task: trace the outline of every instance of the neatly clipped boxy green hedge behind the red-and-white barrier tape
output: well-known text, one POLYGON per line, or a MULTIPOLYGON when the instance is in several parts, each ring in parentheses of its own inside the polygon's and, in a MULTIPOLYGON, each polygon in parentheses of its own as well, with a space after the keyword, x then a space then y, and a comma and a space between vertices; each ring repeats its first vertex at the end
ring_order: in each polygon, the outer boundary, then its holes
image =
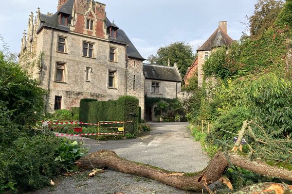
MULTIPOLYGON (((92 100, 92 99, 91 99, 92 100)), ((126 123, 125 130, 134 135, 138 134, 139 99, 131 96, 122 96, 111 101, 80 101, 79 120, 85 123, 98 123, 99 121, 131 121, 126 123), (135 114, 135 116, 130 115, 135 114)))

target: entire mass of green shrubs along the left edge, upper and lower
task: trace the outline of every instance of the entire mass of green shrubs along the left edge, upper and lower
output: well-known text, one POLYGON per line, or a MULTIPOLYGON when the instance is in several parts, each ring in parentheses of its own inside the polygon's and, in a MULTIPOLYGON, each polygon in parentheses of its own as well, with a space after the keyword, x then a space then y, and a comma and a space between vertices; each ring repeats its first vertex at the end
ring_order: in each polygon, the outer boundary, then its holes
POLYGON ((43 97, 38 82, 0 51, 0 193, 49 185, 68 165, 68 161, 55 161, 61 139, 38 129, 43 97))

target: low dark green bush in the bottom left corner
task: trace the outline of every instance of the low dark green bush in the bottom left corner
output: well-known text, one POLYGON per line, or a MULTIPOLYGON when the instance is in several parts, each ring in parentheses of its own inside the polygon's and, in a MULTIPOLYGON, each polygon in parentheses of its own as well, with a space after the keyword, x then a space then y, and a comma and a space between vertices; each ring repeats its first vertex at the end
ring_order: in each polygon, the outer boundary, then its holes
POLYGON ((4 182, 39 189, 49 184, 57 174, 58 164, 54 162, 60 140, 53 136, 18 138, 13 146, 3 150, 4 182))

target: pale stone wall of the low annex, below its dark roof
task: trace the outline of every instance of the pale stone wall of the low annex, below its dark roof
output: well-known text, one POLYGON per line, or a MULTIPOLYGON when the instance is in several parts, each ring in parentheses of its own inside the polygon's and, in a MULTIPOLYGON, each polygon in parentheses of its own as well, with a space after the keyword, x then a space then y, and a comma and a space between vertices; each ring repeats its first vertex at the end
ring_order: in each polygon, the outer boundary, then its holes
POLYGON ((177 94, 181 92, 181 82, 174 81, 159 81, 145 79, 145 93, 147 97, 164 97, 176 98, 177 94), (152 82, 159 82, 159 93, 151 93, 152 82))

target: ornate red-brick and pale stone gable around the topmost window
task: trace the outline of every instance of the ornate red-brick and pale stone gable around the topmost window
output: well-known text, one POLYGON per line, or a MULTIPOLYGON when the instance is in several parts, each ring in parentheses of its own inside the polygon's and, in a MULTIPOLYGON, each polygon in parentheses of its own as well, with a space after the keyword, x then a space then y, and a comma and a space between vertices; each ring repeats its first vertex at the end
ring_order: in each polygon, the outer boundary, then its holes
POLYGON ((94 0, 75 0, 72 31, 107 38, 106 5, 94 0))

